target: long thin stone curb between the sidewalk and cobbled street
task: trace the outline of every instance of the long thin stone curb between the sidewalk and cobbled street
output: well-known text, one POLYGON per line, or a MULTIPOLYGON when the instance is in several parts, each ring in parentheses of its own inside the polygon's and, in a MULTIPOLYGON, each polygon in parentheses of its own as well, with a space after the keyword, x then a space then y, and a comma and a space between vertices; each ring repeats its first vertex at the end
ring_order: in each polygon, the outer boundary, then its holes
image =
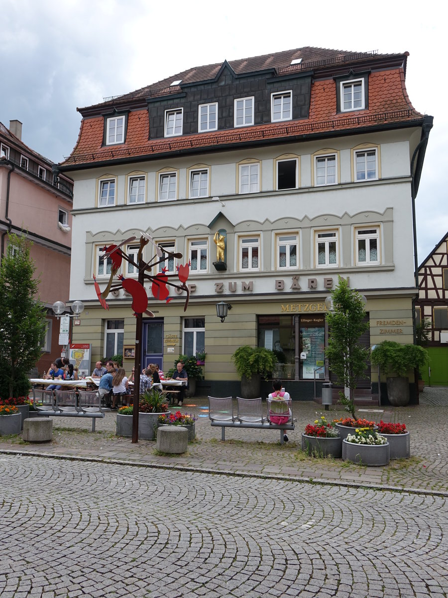
POLYGON ((288 475, 274 475, 274 474, 256 474, 247 473, 244 471, 230 471, 226 469, 208 469, 200 467, 191 467, 188 465, 158 465, 157 463, 146 463, 143 461, 126 461, 121 459, 99 459, 96 457, 78 457, 69 454, 47 454, 39 453, 36 451, 20 451, 20 450, 3 450, 0 449, 0 454, 16 454, 20 456, 32 456, 32 457, 43 457, 44 459, 65 459, 70 461, 85 461, 87 463, 108 463, 111 465, 128 465, 131 467, 148 467, 152 469, 168 469, 174 471, 190 471, 200 474, 214 474, 214 475, 227 475, 231 477, 241 478, 257 478, 259 480, 279 480, 296 482, 301 484, 320 484, 321 486, 340 486, 355 489, 368 489, 368 490, 383 490, 384 492, 400 492, 412 495, 424 495, 424 496, 441 496, 441 498, 448 498, 448 492, 440 492, 437 490, 424 490, 415 488, 400 488, 398 486, 382 486, 380 484, 366 484, 355 482, 340 482, 337 480, 322 480, 320 478, 303 478, 299 476, 288 476, 288 475))

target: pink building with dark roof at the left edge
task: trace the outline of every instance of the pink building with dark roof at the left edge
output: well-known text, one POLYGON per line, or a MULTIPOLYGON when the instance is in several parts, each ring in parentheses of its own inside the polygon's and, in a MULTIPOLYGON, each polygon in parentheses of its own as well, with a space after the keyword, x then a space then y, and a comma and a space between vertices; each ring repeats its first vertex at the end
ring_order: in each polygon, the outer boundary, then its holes
POLYGON ((22 123, 0 123, 0 244, 1 257, 8 234, 26 231, 33 242, 31 255, 40 274, 39 297, 47 307, 47 333, 36 367, 47 370, 60 355, 59 322, 51 306, 69 299, 72 246, 73 181, 54 173, 53 163, 22 142, 22 123))

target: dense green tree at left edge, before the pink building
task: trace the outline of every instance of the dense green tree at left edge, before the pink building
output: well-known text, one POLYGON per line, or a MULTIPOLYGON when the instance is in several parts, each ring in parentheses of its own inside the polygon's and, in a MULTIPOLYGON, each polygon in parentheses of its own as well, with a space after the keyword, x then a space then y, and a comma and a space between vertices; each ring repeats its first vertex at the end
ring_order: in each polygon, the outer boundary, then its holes
POLYGON ((29 392, 27 373, 41 356, 46 310, 25 235, 11 234, 0 269, 0 397, 29 392))

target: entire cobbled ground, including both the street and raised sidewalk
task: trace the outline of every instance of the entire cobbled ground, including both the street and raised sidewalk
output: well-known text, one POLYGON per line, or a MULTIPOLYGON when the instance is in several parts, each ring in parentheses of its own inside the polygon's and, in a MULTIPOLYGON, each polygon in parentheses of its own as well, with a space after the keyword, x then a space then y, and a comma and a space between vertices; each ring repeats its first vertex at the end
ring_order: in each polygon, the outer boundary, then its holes
POLYGON ((381 468, 306 457, 309 402, 284 446, 257 430, 222 443, 198 417, 188 453, 162 456, 117 438, 113 413, 93 434, 54 420, 49 444, 2 438, 0 596, 446 596, 447 396, 358 411, 410 430, 411 459, 381 468))

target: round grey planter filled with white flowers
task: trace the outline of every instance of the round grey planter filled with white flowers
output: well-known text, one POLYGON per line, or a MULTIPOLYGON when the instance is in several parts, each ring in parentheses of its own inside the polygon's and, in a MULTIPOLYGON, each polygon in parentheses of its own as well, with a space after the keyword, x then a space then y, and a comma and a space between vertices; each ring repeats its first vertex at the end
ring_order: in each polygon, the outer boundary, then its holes
POLYGON ((342 441, 342 459, 358 465, 388 465, 390 447, 387 439, 370 428, 355 428, 342 441))

